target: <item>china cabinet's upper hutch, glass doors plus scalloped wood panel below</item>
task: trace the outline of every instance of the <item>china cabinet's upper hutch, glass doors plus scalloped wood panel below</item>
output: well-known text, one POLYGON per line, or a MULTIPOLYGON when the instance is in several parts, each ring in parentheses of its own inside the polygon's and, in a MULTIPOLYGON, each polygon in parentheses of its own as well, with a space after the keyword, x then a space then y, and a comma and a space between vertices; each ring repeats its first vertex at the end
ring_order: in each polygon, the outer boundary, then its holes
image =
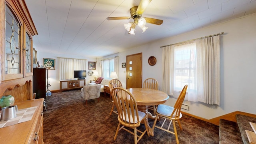
POLYGON ((24 0, 0 0, 0 97, 32 99, 32 36, 37 34, 24 0), (18 92, 15 90, 19 90, 18 92))

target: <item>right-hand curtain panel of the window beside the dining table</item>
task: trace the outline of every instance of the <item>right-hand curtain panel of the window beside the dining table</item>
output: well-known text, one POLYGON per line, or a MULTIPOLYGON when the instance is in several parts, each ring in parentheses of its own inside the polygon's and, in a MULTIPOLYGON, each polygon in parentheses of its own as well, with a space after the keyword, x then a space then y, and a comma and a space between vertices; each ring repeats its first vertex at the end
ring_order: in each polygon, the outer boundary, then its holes
POLYGON ((198 80, 197 100, 206 104, 220 105, 220 35, 197 42, 198 67, 202 77, 198 80), (202 89, 202 90, 201 90, 202 89))

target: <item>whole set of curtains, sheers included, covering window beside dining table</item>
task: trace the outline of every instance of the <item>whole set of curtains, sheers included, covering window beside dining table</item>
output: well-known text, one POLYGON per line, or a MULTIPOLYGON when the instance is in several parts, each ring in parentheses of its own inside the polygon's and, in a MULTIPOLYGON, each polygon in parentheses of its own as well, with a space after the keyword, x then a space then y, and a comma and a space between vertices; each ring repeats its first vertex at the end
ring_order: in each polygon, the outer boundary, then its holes
POLYGON ((162 57, 164 92, 175 97, 187 83, 187 100, 220 105, 220 36, 166 46, 162 57))

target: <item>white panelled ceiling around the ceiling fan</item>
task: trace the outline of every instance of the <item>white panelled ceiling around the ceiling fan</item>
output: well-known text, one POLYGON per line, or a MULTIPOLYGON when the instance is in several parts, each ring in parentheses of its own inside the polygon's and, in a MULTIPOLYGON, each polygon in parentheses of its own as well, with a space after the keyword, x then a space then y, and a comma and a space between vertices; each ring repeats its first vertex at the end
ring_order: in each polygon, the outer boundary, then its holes
POLYGON ((140 0, 25 0, 38 31, 36 50, 56 54, 102 57, 147 42, 175 36, 211 24, 256 12, 256 0, 152 0, 143 17, 164 20, 146 24, 142 33, 128 34, 124 24, 133 20, 106 20, 130 16, 140 0))

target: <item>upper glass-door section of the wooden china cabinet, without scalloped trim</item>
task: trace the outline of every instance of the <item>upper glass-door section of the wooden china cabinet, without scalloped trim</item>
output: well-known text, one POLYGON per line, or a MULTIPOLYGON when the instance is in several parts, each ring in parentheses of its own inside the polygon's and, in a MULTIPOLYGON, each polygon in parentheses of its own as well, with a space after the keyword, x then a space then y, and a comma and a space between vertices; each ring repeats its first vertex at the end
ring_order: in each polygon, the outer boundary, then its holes
POLYGON ((24 0, 0 1, 1 83, 32 76, 32 36, 36 28, 24 0))

